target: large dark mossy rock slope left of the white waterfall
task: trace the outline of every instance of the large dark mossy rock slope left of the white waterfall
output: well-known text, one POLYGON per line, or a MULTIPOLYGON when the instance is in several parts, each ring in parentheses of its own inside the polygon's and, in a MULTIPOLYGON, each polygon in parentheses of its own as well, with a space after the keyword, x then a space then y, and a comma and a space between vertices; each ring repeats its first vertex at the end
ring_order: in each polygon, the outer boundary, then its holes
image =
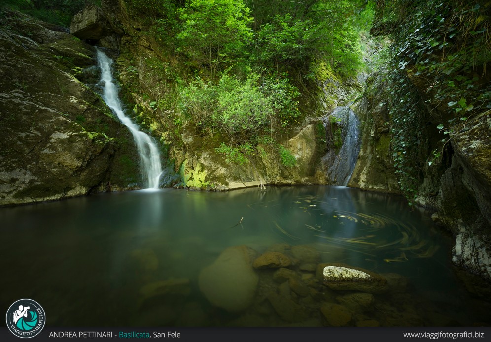
POLYGON ((19 13, 4 15, 17 31, 0 26, 0 205, 125 187, 111 170, 121 170, 114 160, 123 157, 114 137, 128 133, 77 79, 97 68, 93 48, 19 13))

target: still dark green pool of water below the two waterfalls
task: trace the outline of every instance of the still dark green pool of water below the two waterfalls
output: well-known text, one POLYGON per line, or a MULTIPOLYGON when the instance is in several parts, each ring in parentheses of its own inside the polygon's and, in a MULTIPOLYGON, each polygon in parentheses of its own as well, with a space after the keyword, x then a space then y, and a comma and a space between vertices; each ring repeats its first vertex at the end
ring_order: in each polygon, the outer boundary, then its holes
POLYGON ((346 293, 309 283, 315 271, 301 270, 301 259, 289 268, 311 288, 307 297, 275 282, 275 270, 267 269, 255 271, 259 284, 248 309, 227 312, 210 304, 200 272, 224 249, 240 245, 257 255, 298 246, 314 251, 317 263, 407 278, 398 293, 375 295, 368 309, 351 308, 347 325, 491 321, 489 303, 472 299, 454 276, 450 239, 428 213, 399 197, 327 186, 142 190, 0 208, 0 222, 1 305, 32 298, 52 326, 328 324, 320 307, 346 293), (169 281, 177 283, 172 293, 148 290, 169 281), (305 314, 285 319, 270 304, 271 292, 305 314))

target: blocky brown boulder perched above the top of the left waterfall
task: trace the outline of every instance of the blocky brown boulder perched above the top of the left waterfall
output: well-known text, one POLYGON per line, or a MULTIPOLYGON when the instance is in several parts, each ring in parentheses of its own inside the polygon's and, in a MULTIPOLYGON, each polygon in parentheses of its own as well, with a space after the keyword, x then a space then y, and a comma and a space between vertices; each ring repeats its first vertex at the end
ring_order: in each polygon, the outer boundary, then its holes
POLYGON ((99 40, 114 34, 114 31, 101 8, 87 6, 71 19, 70 34, 80 39, 99 40))

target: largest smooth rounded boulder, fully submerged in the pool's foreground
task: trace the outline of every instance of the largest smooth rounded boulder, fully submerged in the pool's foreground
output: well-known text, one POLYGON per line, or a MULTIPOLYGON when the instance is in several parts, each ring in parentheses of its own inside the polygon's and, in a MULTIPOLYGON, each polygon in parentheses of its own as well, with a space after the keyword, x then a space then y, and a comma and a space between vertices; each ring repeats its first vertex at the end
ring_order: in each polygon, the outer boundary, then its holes
POLYGON ((251 305, 259 281, 251 265, 254 256, 247 246, 232 246, 200 272, 200 290, 211 304, 231 312, 251 305))

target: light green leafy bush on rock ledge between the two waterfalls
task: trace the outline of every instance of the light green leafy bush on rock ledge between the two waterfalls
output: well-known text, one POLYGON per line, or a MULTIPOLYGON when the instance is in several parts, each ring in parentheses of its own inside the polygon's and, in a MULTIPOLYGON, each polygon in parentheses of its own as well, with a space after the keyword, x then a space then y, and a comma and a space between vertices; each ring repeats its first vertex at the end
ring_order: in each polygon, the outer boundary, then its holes
POLYGON ((180 92, 184 117, 203 133, 220 132, 230 141, 242 143, 267 129, 296 121, 298 90, 287 78, 267 78, 251 73, 246 80, 223 74, 218 84, 196 79, 180 92))

